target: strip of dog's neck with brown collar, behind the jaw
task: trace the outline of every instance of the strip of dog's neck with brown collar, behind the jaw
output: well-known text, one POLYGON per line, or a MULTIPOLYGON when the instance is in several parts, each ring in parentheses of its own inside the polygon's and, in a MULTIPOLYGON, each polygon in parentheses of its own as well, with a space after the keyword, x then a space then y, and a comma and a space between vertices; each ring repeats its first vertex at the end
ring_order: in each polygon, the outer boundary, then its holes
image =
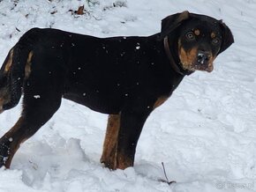
POLYGON ((178 62, 175 60, 174 55, 172 55, 171 53, 173 51, 170 50, 170 45, 169 45, 169 38, 168 36, 165 36, 163 39, 163 46, 164 46, 164 50, 165 53, 169 59, 169 63, 170 66, 173 70, 175 70, 178 74, 185 76, 185 75, 190 75, 192 74, 192 71, 189 70, 184 70, 180 64, 180 61, 178 59, 178 62))

